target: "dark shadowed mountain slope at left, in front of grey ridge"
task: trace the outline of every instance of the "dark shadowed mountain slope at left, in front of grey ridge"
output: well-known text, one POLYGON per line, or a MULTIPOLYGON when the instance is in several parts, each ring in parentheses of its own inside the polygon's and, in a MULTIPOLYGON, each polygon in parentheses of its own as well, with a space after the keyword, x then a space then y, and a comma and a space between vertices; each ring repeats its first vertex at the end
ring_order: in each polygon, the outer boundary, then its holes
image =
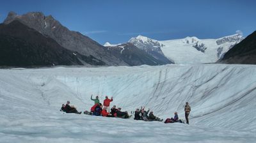
POLYGON ((1 66, 83 65, 104 64, 93 57, 76 54, 61 47, 52 38, 45 37, 18 20, 0 24, 1 66))

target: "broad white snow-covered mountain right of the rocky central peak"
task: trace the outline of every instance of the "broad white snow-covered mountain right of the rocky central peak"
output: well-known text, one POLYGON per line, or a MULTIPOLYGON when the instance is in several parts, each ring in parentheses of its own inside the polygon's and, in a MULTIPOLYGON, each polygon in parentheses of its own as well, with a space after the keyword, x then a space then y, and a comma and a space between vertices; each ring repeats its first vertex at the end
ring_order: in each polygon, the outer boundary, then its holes
POLYGON ((244 38, 240 34, 218 39, 198 39, 195 36, 159 41, 166 57, 177 64, 215 63, 244 38))

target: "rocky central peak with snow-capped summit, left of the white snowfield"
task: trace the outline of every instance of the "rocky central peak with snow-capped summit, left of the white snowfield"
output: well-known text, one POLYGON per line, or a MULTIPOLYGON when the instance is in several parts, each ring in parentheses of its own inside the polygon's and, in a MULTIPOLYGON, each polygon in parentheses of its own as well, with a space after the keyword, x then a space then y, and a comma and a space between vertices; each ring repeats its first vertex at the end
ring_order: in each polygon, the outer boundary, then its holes
POLYGON ((131 39, 131 42, 129 41, 127 43, 119 43, 115 45, 106 42, 104 47, 106 47, 115 57, 122 59, 130 66, 138 66, 141 64, 152 66, 173 63, 163 55, 159 46, 157 47, 156 40, 147 38, 150 43, 144 43, 146 40, 143 40, 143 38, 146 37, 138 36, 137 38, 131 39), (136 41, 140 42, 140 44, 136 44, 138 43, 136 41), (156 43, 154 43, 154 41, 156 41, 156 43))

